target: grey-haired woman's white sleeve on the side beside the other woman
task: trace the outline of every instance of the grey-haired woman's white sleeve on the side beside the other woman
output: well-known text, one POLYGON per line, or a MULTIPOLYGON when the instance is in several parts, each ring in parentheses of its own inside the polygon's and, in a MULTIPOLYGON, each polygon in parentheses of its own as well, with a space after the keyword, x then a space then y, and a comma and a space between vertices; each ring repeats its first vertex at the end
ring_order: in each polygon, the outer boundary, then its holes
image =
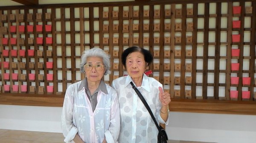
POLYGON ((117 139, 120 131, 120 110, 117 93, 113 93, 111 104, 111 117, 109 129, 105 132, 106 141, 108 143, 118 143, 117 139))

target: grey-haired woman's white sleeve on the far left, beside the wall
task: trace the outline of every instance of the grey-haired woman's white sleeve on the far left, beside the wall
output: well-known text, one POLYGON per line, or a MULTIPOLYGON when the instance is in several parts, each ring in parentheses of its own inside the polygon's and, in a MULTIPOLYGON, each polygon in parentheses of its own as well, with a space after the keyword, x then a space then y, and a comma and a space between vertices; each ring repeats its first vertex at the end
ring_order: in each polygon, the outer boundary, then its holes
POLYGON ((78 129, 74 126, 72 117, 73 117, 73 101, 70 98, 70 92, 66 92, 63 109, 61 114, 61 127, 62 132, 65 137, 65 143, 73 143, 73 139, 76 136, 78 129))

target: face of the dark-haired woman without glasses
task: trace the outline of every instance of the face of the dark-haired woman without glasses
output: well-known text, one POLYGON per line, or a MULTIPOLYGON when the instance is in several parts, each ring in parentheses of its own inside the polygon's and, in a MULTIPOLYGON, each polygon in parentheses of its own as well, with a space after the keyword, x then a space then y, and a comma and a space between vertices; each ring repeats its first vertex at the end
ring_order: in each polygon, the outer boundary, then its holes
POLYGON ((126 70, 131 78, 142 78, 146 69, 144 56, 140 52, 130 53, 126 58, 126 70))

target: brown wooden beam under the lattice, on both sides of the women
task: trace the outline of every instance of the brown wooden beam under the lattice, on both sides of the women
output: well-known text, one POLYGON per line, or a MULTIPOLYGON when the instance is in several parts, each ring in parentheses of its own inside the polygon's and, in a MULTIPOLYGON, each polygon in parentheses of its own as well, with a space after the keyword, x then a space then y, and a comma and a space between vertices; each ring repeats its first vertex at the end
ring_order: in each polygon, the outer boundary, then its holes
MULTIPOLYGON (((62 107, 63 101, 64 95, 0 94, 0 104, 7 105, 62 107)), ((256 115, 256 102, 172 99, 169 109, 172 112, 256 115)))

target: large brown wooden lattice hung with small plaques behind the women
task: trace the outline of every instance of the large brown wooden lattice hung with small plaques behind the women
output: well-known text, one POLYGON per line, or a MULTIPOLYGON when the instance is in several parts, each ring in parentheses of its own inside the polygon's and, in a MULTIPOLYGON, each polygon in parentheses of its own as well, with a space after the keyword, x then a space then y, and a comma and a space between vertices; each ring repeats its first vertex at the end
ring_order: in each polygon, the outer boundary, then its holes
POLYGON ((172 111, 256 115, 255 14, 256 2, 250 0, 159 0, 148 2, 147 6, 143 2, 120 2, 45 5, 38 8, 3 7, 0 9, 0 103, 61 107, 67 86, 84 78, 83 74, 80 79, 77 78, 80 69, 76 66, 84 49, 99 47, 111 55, 112 73, 109 79, 105 79, 111 84, 113 79, 125 74, 120 63, 122 51, 139 46, 153 53, 154 62, 149 65, 154 73, 151 76, 164 84, 165 90, 171 93, 172 111), (198 2, 204 5, 203 14, 198 13, 198 2), (212 4, 215 5, 214 14, 209 11, 212 4), (228 11, 222 13, 221 7, 226 5, 228 11), (240 12, 234 12, 236 8, 238 11, 240 8, 240 12), (198 21, 202 19, 204 28, 198 28, 198 21), (209 22, 212 19, 215 20, 214 28, 209 22), (222 19, 227 19, 224 28, 221 27, 222 19), (251 21, 250 27, 244 25, 247 19, 251 21), (233 21, 240 21, 240 26, 234 27, 233 21), (16 31, 11 28, 15 25, 16 31), (24 26, 25 31, 20 31, 20 25, 24 26), (32 32, 28 31, 28 25, 33 25, 32 32), (46 25, 51 25, 50 31, 46 25), (79 28, 76 28, 77 25, 79 28), (225 42, 221 41, 223 32, 227 35, 225 42), (250 41, 244 41, 248 32, 250 41), (215 35, 214 42, 209 40, 212 38, 211 33, 215 35), (200 34, 204 36, 198 42, 200 34), (238 41, 232 39, 234 35, 240 35, 236 38, 238 41), (3 39, 7 37, 8 43, 5 44, 3 39), (12 43, 13 37, 16 43, 12 43), (222 46, 226 48, 224 56, 220 53, 222 46), (201 56, 198 56, 199 47, 203 49, 201 56), (209 47, 214 47, 215 55, 209 56, 209 47), (249 56, 244 56, 244 47, 250 47, 249 56), (233 49, 240 49, 238 56, 232 55, 233 49), (17 56, 12 55, 12 50, 16 50, 17 56), (21 55, 22 50, 25 50, 24 56, 21 55), (6 51, 8 55, 3 54, 6 51), (202 68, 198 69, 197 61, 200 60, 202 68), (221 60, 226 62, 224 70, 220 69, 221 60), (243 69, 245 60, 249 61, 248 70, 243 69), (59 61, 61 64, 58 64, 59 61), (215 63, 214 68, 209 70, 208 62, 212 61, 215 63), (234 61, 239 63, 238 70, 231 69, 234 61), (9 62, 9 67, 4 67, 4 62, 9 62), (47 67, 49 62, 52 63, 50 68, 47 67), (9 73, 9 79, 4 73, 9 73), (17 73, 18 79, 13 79, 12 73, 17 73), (212 73, 214 82, 209 83, 208 76, 212 73), (35 79, 29 79, 30 74, 35 79), (201 82, 197 81, 198 74, 202 75, 201 82), (237 84, 231 83, 234 74, 239 78, 237 84), (249 84, 242 82, 246 74, 250 77, 249 84), (220 75, 225 75, 225 83, 220 82, 220 75), (47 80, 48 76, 53 77, 47 80), (5 91, 4 85, 10 86, 9 91, 5 91), (13 85, 18 85, 17 91, 12 89, 13 85), (26 91, 21 90, 22 85, 27 85, 26 91), (198 87, 202 89, 199 94, 198 87), (213 88, 211 96, 209 87, 213 88), (225 88, 222 93, 224 96, 219 94, 220 87, 225 88), (237 97, 230 98, 230 89, 234 88, 237 97), (243 96, 244 88, 250 92, 249 98, 243 96))

